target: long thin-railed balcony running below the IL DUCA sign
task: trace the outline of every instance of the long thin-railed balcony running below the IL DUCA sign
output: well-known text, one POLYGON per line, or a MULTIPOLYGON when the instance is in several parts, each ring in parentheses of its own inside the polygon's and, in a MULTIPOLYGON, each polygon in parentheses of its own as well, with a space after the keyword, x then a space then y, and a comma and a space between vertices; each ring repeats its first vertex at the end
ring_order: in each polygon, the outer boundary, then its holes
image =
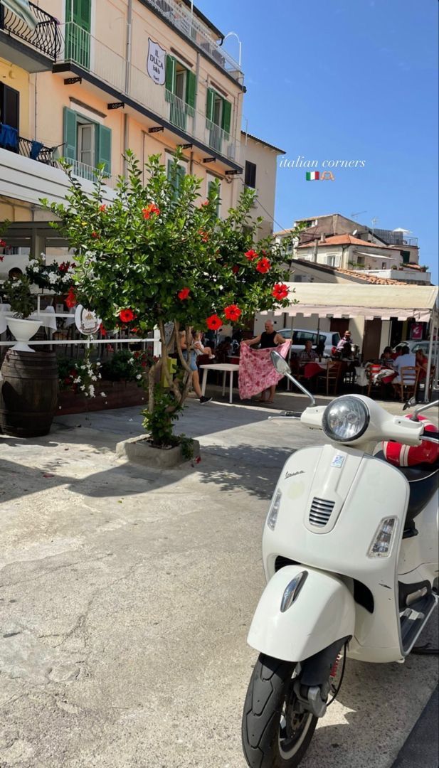
POLYGON ((170 130, 175 127, 176 132, 185 134, 188 141, 193 139, 233 165, 241 164, 241 142, 208 121, 205 113, 190 107, 171 91, 167 91, 165 86, 156 85, 145 71, 129 65, 123 56, 112 51, 75 22, 64 25, 63 38, 64 48, 60 61, 78 65, 81 70, 89 72, 98 81, 121 94, 125 101, 130 98, 134 108, 136 105, 143 108, 153 124, 161 119, 170 126, 170 130))

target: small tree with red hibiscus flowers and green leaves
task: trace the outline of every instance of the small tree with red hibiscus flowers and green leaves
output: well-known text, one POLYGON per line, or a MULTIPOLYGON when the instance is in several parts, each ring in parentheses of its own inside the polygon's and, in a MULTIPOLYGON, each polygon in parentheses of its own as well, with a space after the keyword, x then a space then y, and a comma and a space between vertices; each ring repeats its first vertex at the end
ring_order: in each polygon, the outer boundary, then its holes
MULTIPOLYGON (((220 220, 218 185, 201 201, 201 180, 191 174, 181 178, 178 159, 177 153, 168 178, 160 156, 149 157, 144 185, 141 167, 128 151, 128 180, 119 179, 111 204, 102 201, 102 171, 88 195, 67 169, 67 205, 43 201, 75 249, 75 298, 96 310, 108 329, 128 326, 145 334, 158 326, 161 359, 145 374, 145 388, 149 414, 159 400, 168 425, 191 385, 181 330, 189 339, 191 327, 218 329, 289 303, 281 247, 272 238, 257 240, 258 222, 250 216, 254 190, 244 189, 237 207, 220 220), (165 326, 171 327, 170 336, 165 326), (168 375, 172 349, 181 363, 181 375, 173 381, 168 375), (161 366, 166 396, 155 386, 161 366)), ((153 442, 163 443, 155 439, 151 416, 146 422, 153 442)))

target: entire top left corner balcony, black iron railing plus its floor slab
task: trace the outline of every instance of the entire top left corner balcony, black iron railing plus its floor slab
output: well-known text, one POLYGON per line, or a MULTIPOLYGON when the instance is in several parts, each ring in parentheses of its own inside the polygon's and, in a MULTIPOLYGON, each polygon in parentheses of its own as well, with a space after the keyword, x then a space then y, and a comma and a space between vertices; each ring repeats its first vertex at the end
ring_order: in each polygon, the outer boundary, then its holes
POLYGON ((28 72, 50 69, 57 60, 61 48, 61 34, 57 20, 29 2, 32 14, 37 20, 34 30, 5 5, 0 5, 0 42, 7 48, 8 61, 28 72))

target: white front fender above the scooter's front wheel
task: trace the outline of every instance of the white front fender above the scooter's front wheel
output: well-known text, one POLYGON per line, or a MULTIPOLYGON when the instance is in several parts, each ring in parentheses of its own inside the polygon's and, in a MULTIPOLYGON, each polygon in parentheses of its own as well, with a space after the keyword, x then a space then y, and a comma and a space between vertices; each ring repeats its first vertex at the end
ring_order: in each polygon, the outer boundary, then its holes
POLYGON ((354 598, 343 581, 314 568, 287 565, 268 581, 247 641, 262 654, 298 662, 353 636, 354 626, 354 598), (301 573, 306 575, 297 596, 282 611, 285 590, 301 573))

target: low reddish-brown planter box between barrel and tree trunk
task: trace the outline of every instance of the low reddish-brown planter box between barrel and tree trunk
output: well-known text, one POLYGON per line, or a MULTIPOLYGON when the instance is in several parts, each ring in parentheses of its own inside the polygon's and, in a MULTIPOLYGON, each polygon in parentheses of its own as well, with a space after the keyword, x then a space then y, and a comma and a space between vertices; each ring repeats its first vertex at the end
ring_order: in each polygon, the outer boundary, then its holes
POLYGON ((135 382, 110 382, 101 379, 95 385, 95 397, 84 397, 79 392, 66 389, 60 392, 56 415, 83 413, 85 411, 105 411, 111 408, 128 406, 146 406, 147 396, 135 382), (101 396, 105 392, 105 397, 101 396))

